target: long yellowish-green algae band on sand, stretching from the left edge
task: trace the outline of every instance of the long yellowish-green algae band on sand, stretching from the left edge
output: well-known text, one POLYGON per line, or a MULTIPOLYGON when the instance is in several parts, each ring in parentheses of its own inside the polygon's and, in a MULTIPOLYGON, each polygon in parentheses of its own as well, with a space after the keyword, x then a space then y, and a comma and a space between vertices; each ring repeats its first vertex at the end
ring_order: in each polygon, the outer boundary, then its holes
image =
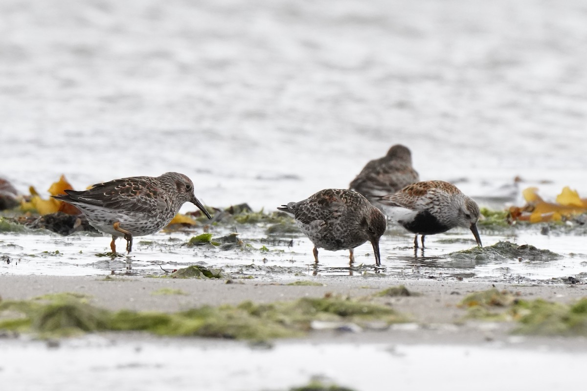
POLYGON ((0 329, 34 332, 41 338, 96 331, 145 331, 170 336, 266 340, 303 336, 311 329, 313 320, 356 324, 373 319, 387 324, 406 321, 386 305, 332 295, 270 304, 245 301, 171 314, 109 311, 69 294, 44 297, 0 302, 0 329))

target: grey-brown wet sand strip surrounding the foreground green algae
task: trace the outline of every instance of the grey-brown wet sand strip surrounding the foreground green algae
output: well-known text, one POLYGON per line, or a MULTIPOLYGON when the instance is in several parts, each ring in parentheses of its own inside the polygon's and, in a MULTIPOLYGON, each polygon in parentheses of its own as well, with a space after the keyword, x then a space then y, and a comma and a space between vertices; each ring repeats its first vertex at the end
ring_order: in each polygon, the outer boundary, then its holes
MULTIPOLYGON (((80 293, 92 297, 92 304, 109 310, 175 312, 201 305, 238 304, 242 301, 274 302, 295 300, 301 297, 323 297, 325 294, 342 294, 359 298, 395 285, 405 285, 410 297, 382 298, 383 302, 409 315, 413 322, 396 324, 384 331, 343 333, 313 331, 308 339, 347 342, 401 342, 402 344, 477 344, 492 341, 515 341, 517 346, 548 345, 570 350, 587 349, 585 338, 545 338, 535 336, 512 337, 513 322, 464 321, 465 310, 458 303, 474 291, 496 287, 510 290, 521 298, 569 303, 584 297, 587 286, 572 284, 500 284, 448 280, 402 280, 401 278, 314 278, 323 286, 286 285, 296 280, 195 280, 171 278, 145 278, 114 276, 103 277, 63 276, 0 276, 2 300, 23 300, 50 293, 80 293), (153 294, 163 288, 181 290, 181 295, 153 294), (514 339, 512 339, 514 338, 514 339), (521 344, 523 342, 523 344, 521 344)), ((311 280, 308 278, 307 280, 311 280)), ((115 335, 112 338, 117 338, 115 335)), ((121 334, 121 338, 126 338, 121 334)), ((140 339, 151 339, 141 334, 140 339)), ((201 340, 200 340, 201 341, 201 340)), ((210 340, 208 342, 212 342, 210 340)))

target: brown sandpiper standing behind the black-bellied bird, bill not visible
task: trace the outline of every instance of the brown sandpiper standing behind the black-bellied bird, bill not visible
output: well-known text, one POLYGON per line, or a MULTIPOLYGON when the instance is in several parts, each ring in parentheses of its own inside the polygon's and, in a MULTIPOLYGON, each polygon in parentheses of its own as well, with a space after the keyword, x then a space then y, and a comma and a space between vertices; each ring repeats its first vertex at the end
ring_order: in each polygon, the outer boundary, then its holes
POLYGON ((349 189, 361 193, 370 203, 384 210, 379 203, 380 196, 394 193, 417 181, 419 176, 411 166, 410 149, 397 144, 389 148, 384 157, 367 163, 350 182, 349 189))

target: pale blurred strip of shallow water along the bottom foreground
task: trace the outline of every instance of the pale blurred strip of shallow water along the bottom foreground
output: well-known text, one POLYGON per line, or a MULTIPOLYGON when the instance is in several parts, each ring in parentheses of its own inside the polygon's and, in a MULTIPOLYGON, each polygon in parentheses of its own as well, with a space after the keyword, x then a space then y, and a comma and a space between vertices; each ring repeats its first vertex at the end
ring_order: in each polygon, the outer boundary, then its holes
POLYGON ((89 337, 48 348, 43 342, 23 346, 0 340, 0 370, 14 391, 285 391, 313 377, 357 391, 388 389, 390 384, 399 389, 469 390, 472 379, 477 379, 476 390, 501 389, 504 383, 511 389, 559 390, 582 373, 587 359, 585 352, 514 346, 301 342, 252 349, 235 342, 113 342, 89 337))

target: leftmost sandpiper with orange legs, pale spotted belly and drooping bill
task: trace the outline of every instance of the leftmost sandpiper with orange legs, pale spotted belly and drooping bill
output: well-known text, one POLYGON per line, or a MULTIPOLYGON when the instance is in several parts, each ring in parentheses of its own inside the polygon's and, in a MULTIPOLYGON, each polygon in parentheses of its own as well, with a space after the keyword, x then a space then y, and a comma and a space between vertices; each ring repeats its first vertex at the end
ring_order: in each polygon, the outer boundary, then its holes
POLYGON ((56 195, 77 206, 97 230, 111 234, 110 249, 116 253, 117 237, 133 247, 133 236, 155 233, 166 226, 185 202, 197 206, 210 219, 210 213, 195 198, 194 184, 178 172, 161 176, 133 176, 97 183, 86 191, 66 190, 56 195))

